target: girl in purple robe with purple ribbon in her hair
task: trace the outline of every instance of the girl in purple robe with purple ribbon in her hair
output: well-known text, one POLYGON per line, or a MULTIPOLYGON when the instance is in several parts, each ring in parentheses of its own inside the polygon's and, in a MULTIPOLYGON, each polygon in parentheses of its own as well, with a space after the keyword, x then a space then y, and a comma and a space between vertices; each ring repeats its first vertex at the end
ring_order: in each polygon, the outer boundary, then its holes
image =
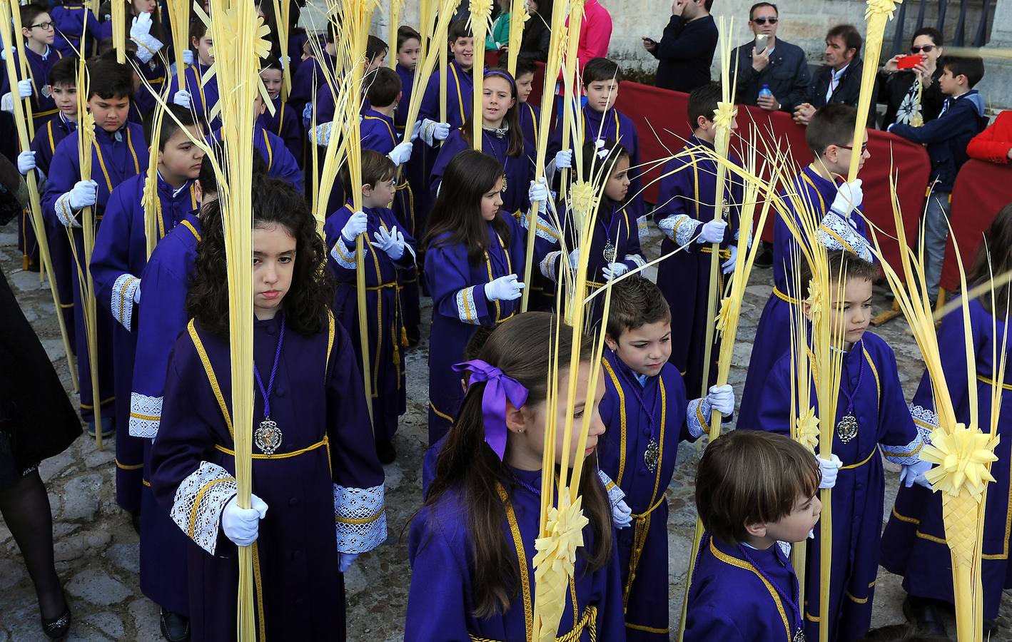
MULTIPOLYGON (((579 373, 571 373, 572 331, 559 328, 557 335, 558 323, 546 312, 516 316, 492 333, 479 359, 456 366, 471 373, 468 394, 439 454, 425 506, 411 525, 405 624, 410 642, 532 639, 534 540, 551 368, 545 346, 552 337, 559 342, 560 389, 570 376, 578 376, 575 426, 590 412, 582 453, 574 452, 579 431, 566 444, 560 430, 556 445, 557 465, 566 451, 570 462, 584 457, 579 492, 589 520, 558 634, 582 642, 625 639, 611 507, 595 455, 604 433, 597 414, 603 383, 584 407, 590 372, 597 367, 589 361, 593 341, 583 341, 579 373)), ((565 406, 558 410, 560 427, 567 421, 565 406)))

